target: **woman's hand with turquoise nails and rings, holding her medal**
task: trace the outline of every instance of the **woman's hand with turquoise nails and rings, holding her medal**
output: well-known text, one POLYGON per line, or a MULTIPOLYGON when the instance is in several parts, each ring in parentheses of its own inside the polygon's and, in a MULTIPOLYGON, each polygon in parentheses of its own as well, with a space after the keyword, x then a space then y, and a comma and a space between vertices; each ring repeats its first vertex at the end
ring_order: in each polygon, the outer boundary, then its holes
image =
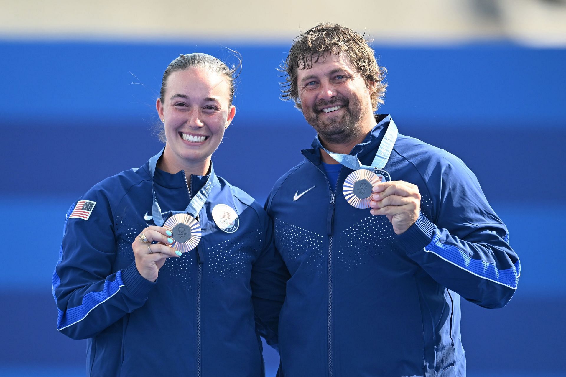
POLYGON ((181 252, 167 245, 173 243, 171 231, 161 226, 148 226, 132 242, 136 267, 141 276, 149 281, 156 281, 159 269, 165 259, 181 256, 181 252), (157 243, 152 243, 157 242, 157 243))

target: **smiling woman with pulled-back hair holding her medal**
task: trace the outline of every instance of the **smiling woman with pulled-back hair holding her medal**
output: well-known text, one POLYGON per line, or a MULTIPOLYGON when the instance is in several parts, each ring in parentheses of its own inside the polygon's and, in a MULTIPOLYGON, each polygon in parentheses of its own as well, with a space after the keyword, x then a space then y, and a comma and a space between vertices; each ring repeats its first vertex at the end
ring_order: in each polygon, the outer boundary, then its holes
POLYGON ((157 99, 165 147, 67 214, 53 277, 57 329, 88 339, 89 376, 261 376, 286 269, 263 208, 215 174, 234 71, 181 55, 157 99))

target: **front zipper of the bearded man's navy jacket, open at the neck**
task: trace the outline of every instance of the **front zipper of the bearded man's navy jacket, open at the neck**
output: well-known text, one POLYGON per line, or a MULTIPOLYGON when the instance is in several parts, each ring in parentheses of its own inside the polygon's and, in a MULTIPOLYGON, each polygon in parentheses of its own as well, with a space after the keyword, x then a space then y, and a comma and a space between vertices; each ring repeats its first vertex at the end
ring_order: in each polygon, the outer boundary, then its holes
MULTIPOLYGON (((305 156, 305 153, 303 153, 305 156)), ((338 191, 338 182, 340 182, 340 173, 342 172, 342 168, 340 168, 340 172, 338 172, 338 179, 336 180, 336 189, 332 192, 332 185, 330 184, 330 180, 328 179, 327 175, 323 172, 322 169, 314 162, 309 160, 307 156, 305 156, 307 161, 311 162, 312 165, 316 167, 320 171, 321 174, 324 175, 326 182, 328 183, 328 190, 330 191, 330 203, 328 203, 328 211, 326 216, 326 231, 328 234, 328 317, 327 317, 327 341, 328 341, 328 376, 332 377, 332 237, 334 232, 334 209, 335 209, 335 198, 336 198, 336 191, 338 191)))

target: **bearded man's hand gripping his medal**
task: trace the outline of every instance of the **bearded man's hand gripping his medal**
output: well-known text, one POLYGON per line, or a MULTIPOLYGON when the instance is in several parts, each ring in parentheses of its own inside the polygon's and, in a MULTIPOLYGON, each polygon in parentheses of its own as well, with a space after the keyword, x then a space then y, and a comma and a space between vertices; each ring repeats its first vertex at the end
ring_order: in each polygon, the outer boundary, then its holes
POLYGON ((417 185, 405 181, 381 182, 372 189, 370 213, 385 215, 396 234, 404 233, 421 212, 421 194, 417 185))

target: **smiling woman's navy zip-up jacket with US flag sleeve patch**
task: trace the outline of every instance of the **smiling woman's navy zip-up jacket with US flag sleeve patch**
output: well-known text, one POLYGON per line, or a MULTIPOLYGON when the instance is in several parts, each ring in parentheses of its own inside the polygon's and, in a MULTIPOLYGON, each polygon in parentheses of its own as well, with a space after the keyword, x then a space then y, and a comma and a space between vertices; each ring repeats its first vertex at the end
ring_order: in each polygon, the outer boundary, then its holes
MULTIPOLYGON (((198 192, 206 178, 191 175, 187 185, 184 172, 157 169, 161 210, 183 211, 187 186, 198 192)), ((258 332, 276 344, 286 269, 264 209, 217 179, 199 212, 198 250, 167 259, 155 282, 141 277, 131 247, 141 230, 155 225, 147 163, 82 196, 96 202, 88 220, 69 216, 71 206, 53 295, 57 329, 73 339, 88 338, 87 375, 264 375, 258 332), (220 204, 238 215, 224 226, 230 233, 213 219, 220 204)))

